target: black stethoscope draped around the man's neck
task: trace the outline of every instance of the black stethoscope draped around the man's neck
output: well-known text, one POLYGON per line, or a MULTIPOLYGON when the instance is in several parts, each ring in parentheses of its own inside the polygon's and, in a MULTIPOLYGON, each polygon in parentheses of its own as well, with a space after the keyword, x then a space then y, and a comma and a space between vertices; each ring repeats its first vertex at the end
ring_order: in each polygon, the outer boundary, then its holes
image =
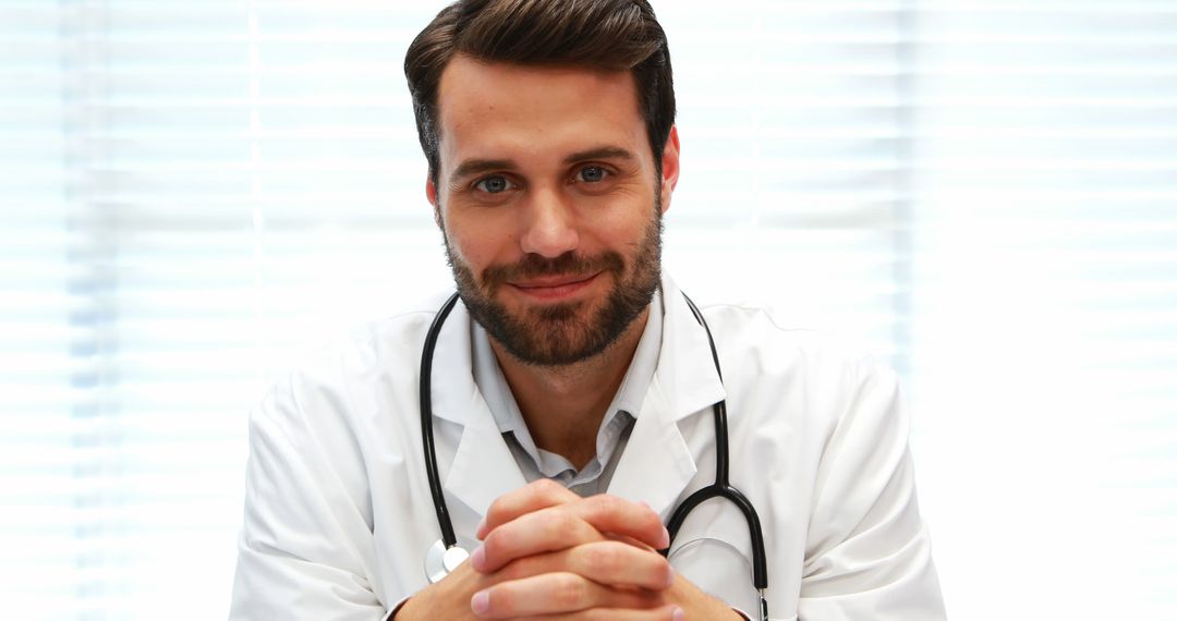
MULTIPOLYGON (((707 342, 711 346, 711 360, 716 363, 716 373, 719 381, 723 381, 724 373, 719 368, 719 354, 716 352, 716 341, 711 336, 711 328, 703 319, 703 313, 694 306, 686 294, 683 294, 686 305, 691 307, 691 313, 696 321, 703 326, 707 333, 707 342)), ((425 472, 430 479, 430 493, 433 495, 433 508, 438 515, 438 526, 441 527, 441 539, 430 546, 425 554, 425 575, 430 582, 438 582, 443 577, 458 568, 470 553, 458 545, 458 537, 453 532, 453 522, 450 520, 450 509, 446 507, 445 496, 441 492, 441 476, 438 474, 437 452, 433 447, 433 398, 431 376, 433 374, 433 352, 437 349, 438 335, 441 333, 441 325, 445 323, 450 312, 458 303, 458 294, 454 293, 433 318, 430 332, 425 335, 425 347, 421 350, 421 383, 420 383, 420 410, 421 410, 421 445, 425 448, 425 472)), ((671 514, 666 530, 670 532, 671 545, 660 550, 665 556, 670 554, 670 548, 674 542, 674 535, 686 521, 686 516, 705 500, 722 498, 731 501, 744 514, 747 521, 749 536, 752 540, 752 583, 760 595, 760 619, 769 617, 769 603, 764 599, 764 589, 769 587, 769 574, 764 553, 764 533, 760 530, 760 518, 756 514, 756 508, 739 489, 727 482, 727 401, 723 400, 712 407, 716 419, 716 481, 703 489, 687 496, 671 514)))

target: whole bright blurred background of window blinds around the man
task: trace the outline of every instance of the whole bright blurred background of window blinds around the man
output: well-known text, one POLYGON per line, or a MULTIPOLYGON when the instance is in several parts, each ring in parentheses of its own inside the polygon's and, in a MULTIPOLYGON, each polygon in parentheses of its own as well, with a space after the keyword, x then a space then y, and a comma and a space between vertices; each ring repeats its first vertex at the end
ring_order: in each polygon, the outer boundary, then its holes
MULTIPOLYGON (((225 617, 250 408, 451 282, 441 6, 0 0, 4 616, 225 617)), ((1177 619, 1177 1, 716 6, 667 271, 900 372, 951 619, 1177 619)))

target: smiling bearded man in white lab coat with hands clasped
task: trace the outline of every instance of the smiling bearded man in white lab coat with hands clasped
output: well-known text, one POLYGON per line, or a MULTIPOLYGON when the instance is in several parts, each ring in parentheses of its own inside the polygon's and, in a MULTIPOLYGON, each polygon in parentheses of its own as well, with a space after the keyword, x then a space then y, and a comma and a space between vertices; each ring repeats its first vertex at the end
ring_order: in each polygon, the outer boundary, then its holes
POLYGON ((738 507, 699 505, 672 545, 663 526, 714 480, 726 402, 773 617, 943 619, 893 376, 758 309, 696 318, 660 274, 680 143, 650 6, 459 1, 405 69, 460 294, 425 360, 432 403, 419 356, 440 300, 273 392, 252 419, 232 617, 757 614, 738 507), (455 535, 477 546, 432 585, 423 405, 455 535))

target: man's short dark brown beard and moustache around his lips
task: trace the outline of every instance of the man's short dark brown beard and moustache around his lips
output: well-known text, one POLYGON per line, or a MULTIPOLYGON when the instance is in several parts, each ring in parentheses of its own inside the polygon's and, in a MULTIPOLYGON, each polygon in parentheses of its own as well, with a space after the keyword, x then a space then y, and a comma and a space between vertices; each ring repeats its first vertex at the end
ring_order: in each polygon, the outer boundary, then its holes
POLYGON ((621 253, 606 251, 597 255, 568 252, 554 259, 527 254, 511 265, 492 265, 481 278, 465 263, 445 240, 446 258, 453 271, 458 295, 474 321, 512 356, 534 366, 565 366, 588 360, 618 341, 633 320, 641 314, 661 280, 661 201, 654 194, 654 216, 647 223, 632 261, 621 253), (578 300, 526 307, 512 314, 496 300, 499 289, 511 281, 538 276, 610 275, 613 288, 599 308, 594 300, 578 300))

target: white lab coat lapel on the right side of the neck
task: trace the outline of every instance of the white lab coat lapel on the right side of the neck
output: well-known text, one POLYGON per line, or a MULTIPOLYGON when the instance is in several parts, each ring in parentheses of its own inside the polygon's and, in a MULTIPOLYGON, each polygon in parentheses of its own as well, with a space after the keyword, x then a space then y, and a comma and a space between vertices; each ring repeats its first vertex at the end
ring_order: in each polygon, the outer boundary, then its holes
POLYGON ((698 472, 679 421, 710 413, 725 395, 703 326, 669 278, 663 280, 661 291, 665 312, 658 369, 609 493, 644 501, 665 520, 698 472))

